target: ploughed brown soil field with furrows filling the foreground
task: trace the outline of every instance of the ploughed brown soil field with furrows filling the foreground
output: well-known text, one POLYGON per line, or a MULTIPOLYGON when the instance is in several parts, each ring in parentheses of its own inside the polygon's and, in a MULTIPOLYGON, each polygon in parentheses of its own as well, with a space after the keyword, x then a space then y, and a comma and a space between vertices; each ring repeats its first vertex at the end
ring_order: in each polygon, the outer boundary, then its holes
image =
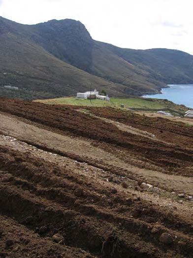
POLYGON ((193 195, 192 128, 90 109, 151 139, 70 107, 0 111, 0 257, 193 257, 193 202, 178 197, 193 195))

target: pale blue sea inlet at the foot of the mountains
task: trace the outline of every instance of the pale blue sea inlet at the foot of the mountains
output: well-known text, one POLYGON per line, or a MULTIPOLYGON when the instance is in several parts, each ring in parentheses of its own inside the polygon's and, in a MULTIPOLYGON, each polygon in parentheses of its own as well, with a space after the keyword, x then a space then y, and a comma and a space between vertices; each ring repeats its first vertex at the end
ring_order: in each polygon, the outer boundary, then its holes
POLYGON ((183 104, 193 108, 193 84, 168 86, 168 88, 161 89, 161 94, 143 95, 142 97, 168 99, 176 104, 183 104))

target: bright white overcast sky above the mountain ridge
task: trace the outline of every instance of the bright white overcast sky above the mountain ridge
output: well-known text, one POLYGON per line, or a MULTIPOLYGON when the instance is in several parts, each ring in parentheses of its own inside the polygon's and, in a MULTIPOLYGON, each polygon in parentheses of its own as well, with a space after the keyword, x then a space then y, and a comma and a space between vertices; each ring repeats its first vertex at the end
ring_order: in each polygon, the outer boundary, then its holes
POLYGON ((0 16, 24 24, 71 18, 98 41, 193 54, 193 0, 0 0, 0 16))

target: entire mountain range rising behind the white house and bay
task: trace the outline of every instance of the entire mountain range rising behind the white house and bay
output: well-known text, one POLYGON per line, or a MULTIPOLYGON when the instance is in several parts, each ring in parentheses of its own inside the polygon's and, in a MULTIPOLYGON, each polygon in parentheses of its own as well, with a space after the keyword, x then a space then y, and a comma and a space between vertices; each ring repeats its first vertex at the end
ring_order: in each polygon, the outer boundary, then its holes
POLYGON ((23 25, 0 17, 0 95, 59 97, 87 90, 91 83, 112 96, 156 93, 166 84, 193 83, 193 56, 97 42, 71 19, 23 25))

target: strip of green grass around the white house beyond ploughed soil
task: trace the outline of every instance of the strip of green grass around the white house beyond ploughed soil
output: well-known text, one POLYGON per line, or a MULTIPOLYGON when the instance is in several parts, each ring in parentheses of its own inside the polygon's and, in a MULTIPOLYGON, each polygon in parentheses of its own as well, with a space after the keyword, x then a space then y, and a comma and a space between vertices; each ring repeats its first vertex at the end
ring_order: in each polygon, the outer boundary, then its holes
POLYGON ((170 108, 176 111, 185 112, 188 109, 183 105, 176 105, 171 101, 165 99, 145 99, 145 98, 111 98, 110 101, 94 99, 76 99, 75 97, 64 97, 54 99, 34 100, 44 104, 58 104, 58 105, 76 105, 76 106, 94 106, 94 107, 120 107, 124 104, 128 108, 147 108, 147 109, 164 109, 170 108))

